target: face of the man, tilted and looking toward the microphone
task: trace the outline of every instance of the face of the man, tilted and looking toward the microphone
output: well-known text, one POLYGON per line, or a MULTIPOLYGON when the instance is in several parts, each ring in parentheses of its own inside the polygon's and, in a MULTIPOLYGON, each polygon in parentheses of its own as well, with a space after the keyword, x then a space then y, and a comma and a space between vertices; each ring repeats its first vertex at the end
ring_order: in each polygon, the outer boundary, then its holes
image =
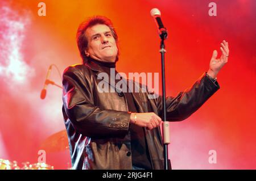
POLYGON ((85 31, 85 36, 88 40, 86 56, 100 61, 115 62, 118 49, 108 26, 96 24, 85 31))

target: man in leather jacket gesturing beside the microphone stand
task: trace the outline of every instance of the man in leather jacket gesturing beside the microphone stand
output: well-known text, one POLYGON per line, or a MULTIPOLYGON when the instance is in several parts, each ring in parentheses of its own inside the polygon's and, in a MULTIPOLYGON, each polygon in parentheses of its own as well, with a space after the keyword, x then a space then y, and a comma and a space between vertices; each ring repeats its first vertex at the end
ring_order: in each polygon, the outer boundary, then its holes
MULTIPOLYGON (((98 90, 99 74, 110 74, 118 61, 117 43, 112 23, 102 16, 82 23, 77 31, 83 64, 69 66, 63 73, 63 115, 72 169, 164 169, 159 128, 162 96, 149 99, 148 92, 98 90)), ((216 77, 228 62, 228 42, 224 40, 220 49, 221 57, 214 50, 209 70, 191 89, 167 97, 168 121, 186 119, 220 88, 216 77)))

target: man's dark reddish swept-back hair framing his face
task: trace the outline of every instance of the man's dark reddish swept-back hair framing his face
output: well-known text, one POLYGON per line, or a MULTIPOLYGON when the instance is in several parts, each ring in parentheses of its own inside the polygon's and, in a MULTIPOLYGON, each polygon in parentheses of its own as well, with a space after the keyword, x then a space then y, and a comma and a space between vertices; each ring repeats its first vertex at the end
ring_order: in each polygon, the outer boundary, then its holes
POLYGON ((86 57, 86 54, 85 54, 85 50, 87 49, 87 46, 88 46, 88 40, 86 39, 85 31, 87 30, 87 28, 93 27, 96 24, 105 24, 110 28, 110 31, 112 32, 112 35, 115 39, 115 43, 117 44, 118 52, 117 52, 117 57, 115 61, 118 61, 118 55, 119 55, 118 36, 117 36, 117 32, 113 27, 113 23, 111 22, 110 19, 106 18, 105 16, 93 16, 85 20, 84 22, 82 22, 79 28, 77 29, 77 33, 76 33, 77 47, 79 48, 80 56, 82 57, 82 62, 85 63, 86 61, 88 61, 88 57, 86 57))

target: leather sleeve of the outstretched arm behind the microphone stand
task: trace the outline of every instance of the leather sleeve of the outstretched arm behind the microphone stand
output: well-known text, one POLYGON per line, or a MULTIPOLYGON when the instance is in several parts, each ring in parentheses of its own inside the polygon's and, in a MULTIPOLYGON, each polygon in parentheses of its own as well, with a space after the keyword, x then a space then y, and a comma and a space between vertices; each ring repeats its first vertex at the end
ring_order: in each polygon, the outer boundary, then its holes
MULTIPOLYGON (((166 112, 167 121, 182 121, 187 119, 193 112, 198 110, 209 98, 220 89, 218 82, 215 83, 204 73, 189 89, 179 92, 176 97, 167 96, 166 112)), ((156 100, 158 113, 162 117, 162 96, 156 100)))

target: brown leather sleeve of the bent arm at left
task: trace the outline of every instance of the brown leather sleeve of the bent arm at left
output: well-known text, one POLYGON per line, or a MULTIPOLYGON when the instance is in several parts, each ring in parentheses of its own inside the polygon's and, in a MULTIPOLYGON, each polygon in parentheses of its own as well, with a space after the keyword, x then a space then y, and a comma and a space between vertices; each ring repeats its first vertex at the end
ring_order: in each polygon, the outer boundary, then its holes
POLYGON ((130 113, 101 110, 94 106, 90 75, 85 75, 82 70, 84 68, 70 66, 63 73, 63 106, 71 124, 84 136, 125 136, 129 129, 130 113))

